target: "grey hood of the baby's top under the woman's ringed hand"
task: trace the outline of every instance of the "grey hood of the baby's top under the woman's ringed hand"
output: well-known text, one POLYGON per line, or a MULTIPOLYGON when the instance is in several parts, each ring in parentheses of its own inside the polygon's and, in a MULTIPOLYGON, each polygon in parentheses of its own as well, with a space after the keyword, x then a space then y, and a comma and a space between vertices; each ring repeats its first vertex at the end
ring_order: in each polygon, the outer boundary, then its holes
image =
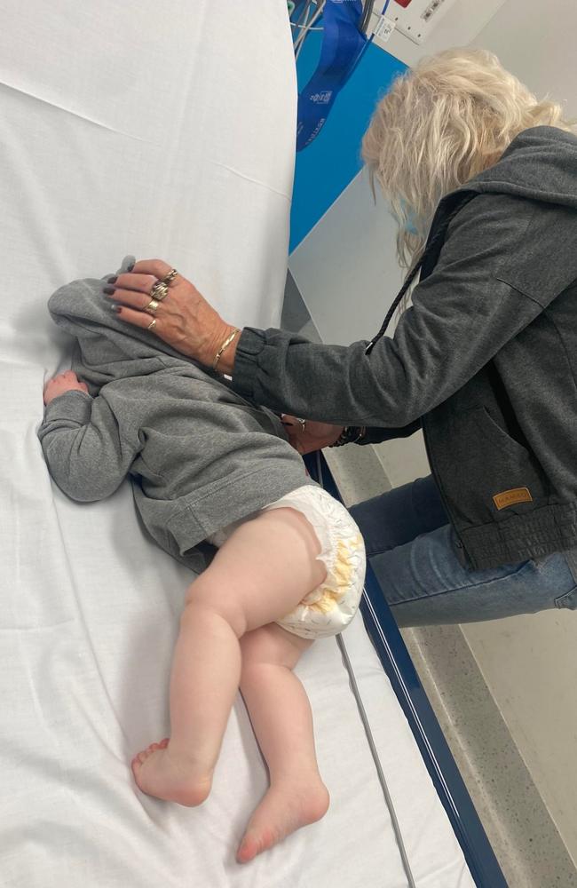
MULTIPOLYGON (((124 257, 115 274, 126 272, 134 261, 133 256, 124 257)), ((154 333, 121 321, 111 312, 111 301, 103 293, 111 274, 67 283, 48 300, 52 321, 76 339, 72 369, 88 384, 91 394, 114 379, 146 376, 163 369, 168 362, 162 354, 196 363, 154 333)))

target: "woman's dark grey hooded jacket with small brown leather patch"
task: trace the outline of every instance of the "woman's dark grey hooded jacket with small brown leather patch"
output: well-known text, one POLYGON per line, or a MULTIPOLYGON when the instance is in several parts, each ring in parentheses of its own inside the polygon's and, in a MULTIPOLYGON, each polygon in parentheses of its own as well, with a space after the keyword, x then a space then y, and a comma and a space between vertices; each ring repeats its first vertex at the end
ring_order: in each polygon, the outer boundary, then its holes
POLYGON ((463 564, 569 551, 574 568, 573 134, 520 133, 498 163, 440 202, 412 303, 369 354, 366 341, 317 345, 244 329, 235 390, 296 416, 370 426, 368 442, 422 425, 463 564))

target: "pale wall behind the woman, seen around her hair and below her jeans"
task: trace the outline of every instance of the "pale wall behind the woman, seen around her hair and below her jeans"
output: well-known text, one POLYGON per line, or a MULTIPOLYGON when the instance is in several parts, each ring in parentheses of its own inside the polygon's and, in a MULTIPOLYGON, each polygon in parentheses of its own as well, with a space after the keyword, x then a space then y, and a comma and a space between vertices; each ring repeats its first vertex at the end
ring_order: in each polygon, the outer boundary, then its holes
MULTIPOLYGON (((577 116, 574 0, 506 0, 491 9, 493 18, 479 33, 486 4, 459 0, 430 43, 416 47, 393 36, 387 48, 414 63, 420 54, 472 42, 496 52, 540 97, 549 92, 565 100, 567 114, 577 116), (400 50, 393 39, 401 41, 400 50)), ((392 220, 382 204, 373 207, 366 178, 352 182, 289 265, 326 342, 346 344, 378 329, 400 275, 392 220)), ((379 457, 393 485, 429 472, 420 435, 381 445, 379 457)), ((577 614, 537 614, 462 630, 577 862, 577 614)))

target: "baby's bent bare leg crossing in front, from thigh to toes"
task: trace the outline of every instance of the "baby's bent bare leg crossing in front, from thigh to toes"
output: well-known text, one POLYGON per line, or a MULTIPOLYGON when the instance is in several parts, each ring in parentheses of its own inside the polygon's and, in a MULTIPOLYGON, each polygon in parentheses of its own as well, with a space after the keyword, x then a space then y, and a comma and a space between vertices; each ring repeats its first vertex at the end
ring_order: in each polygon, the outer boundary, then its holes
POLYGON ((323 582, 320 543, 294 509, 245 522, 186 595, 170 678, 170 742, 132 761, 140 789, 181 805, 208 796, 241 681, 245 632, 280 619, 323 582))

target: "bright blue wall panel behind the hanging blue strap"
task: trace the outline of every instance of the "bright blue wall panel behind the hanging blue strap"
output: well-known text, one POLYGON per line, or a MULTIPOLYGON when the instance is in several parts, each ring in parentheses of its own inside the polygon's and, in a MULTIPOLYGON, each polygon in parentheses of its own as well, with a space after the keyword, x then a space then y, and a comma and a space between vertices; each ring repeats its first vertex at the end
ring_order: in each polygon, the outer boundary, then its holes
MULTIPOLYGON (((320 32, 312 32, 297 63, 299 91, 310 80, 320 56, 320 32)), ((292 252, 359 172, 360 141, 393 79, 407 66, 380 47, 368 46, 360 64, 336 97, 328 121, 311 145, 296 155, 290 218, 292 252)))

